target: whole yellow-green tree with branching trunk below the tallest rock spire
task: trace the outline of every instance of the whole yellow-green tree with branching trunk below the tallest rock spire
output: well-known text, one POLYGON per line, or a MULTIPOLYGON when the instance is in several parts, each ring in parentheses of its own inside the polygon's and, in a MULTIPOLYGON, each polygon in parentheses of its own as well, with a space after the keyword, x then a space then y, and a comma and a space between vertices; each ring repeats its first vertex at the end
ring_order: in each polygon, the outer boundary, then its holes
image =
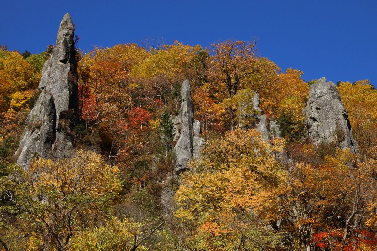
POLYGON ((78 150, 72 157, 34 159, 27 171, 25 190, 14 197, 21 219, 39 226, 32 230, 29 250, 67 250, 82 222, 90 224, 121 190, 118 168, 105 164, 100 155, 78 150))

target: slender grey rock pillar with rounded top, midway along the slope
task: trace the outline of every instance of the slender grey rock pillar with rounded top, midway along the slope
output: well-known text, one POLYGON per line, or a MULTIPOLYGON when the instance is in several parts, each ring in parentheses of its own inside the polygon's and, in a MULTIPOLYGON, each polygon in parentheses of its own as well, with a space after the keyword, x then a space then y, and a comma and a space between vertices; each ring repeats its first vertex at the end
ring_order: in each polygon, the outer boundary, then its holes
POLYGON ((189 169, 187 162, 192 157, 198 157, 200 149, 204 145, 200 137, 200 122, 193 119, 193 104, 191 99, 191 87, 188 80, 183 81, 181 87, 181 110, 173 120, 175 140, 178 140, 175 147, 175 171, 179 172, 189 169))

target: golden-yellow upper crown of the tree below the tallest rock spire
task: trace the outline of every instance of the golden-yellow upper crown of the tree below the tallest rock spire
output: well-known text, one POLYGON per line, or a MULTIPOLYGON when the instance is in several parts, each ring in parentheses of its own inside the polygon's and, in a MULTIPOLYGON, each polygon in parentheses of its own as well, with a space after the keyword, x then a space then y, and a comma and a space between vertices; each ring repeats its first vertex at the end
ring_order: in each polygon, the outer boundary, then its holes
POLYGON ((93 199, 111 198, 120 190, 115 175, 118 167, 105 164, 101 155, 78 150, 72 158, 56 161, 39 158, 30 164, 36 190, 55 190, 61 198, 75 194, 93 199))

